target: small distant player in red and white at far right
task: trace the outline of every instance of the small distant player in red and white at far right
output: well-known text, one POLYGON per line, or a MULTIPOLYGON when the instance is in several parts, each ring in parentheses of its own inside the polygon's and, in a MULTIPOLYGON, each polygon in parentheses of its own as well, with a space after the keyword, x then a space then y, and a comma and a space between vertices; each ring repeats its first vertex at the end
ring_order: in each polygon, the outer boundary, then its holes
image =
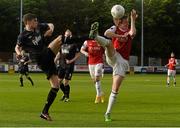
POLYGON ((165 65, 165 67, 168 68, 168 72, 167 72, 167 86, 169 86, 170 84, 170 77, 173 77, 173 81, 174 81, 174 86, 176 86, 176 64, 177 64, 177 60, 175 59, 175 55, 172 52, 171 53, 171 58, 169 58, 168 60, 168 64, 165 65))

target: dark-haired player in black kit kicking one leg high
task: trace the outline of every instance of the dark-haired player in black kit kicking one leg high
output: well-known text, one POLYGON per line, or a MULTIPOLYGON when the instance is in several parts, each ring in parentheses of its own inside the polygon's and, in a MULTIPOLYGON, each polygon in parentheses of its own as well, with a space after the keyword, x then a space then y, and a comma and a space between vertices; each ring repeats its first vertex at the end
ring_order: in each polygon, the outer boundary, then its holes
POLYGON ((52 119, 49 116, 49 108, 59 90, 54 58, 60 49, 62 37, 61 35, 58 36, 50 42, 48 46, 46 46, 44 39, 52 35, 54 25, 52 23, 38 23, 37 16, 32 13, 25 14, 23 16, 23 22, 25 29, 18 36, 17 44, 15 46, 16 56, 20 59, 22 57, 21 51, 27 51, 30 55, 35 57, 38 66, 47 75, 51 89, 40 117, 47 121, 51 121, 52 119))

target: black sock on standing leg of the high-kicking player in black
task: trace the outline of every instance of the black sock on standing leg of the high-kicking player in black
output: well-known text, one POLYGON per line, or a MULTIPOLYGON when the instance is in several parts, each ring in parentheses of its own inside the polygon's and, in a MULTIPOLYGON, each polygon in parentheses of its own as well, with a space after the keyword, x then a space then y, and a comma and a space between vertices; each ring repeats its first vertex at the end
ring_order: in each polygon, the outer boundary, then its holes
POLYGON ((45 114, 48 113, 51 104, 53 103, 54 99, 56 98, 58 90, 59 89, 57 89, 57 88, 51 88, 51 90, 49 91, 47 101, 46 101, 46 104, 44 106, 42 113, 45 113, 45 114))

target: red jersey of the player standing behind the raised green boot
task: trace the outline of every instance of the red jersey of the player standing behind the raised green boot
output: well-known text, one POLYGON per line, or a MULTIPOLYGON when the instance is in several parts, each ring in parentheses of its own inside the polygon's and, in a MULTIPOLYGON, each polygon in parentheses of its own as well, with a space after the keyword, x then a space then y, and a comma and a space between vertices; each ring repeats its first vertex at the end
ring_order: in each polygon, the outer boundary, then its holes
POLYGON ((103 63, 104 48, 97 44, 95 40, 87 40, 83 47, 88 52, 88 64, 103 63))

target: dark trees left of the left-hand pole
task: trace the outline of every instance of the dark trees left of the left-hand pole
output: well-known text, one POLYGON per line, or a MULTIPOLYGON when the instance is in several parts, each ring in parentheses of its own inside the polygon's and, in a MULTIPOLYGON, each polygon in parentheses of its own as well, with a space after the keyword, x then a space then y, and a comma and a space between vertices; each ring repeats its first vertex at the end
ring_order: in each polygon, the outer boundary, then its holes
POLYGON ((19 0, 0 1, 0 51, 13 51, 12 38, 16 38, 19 32, 19 0))

